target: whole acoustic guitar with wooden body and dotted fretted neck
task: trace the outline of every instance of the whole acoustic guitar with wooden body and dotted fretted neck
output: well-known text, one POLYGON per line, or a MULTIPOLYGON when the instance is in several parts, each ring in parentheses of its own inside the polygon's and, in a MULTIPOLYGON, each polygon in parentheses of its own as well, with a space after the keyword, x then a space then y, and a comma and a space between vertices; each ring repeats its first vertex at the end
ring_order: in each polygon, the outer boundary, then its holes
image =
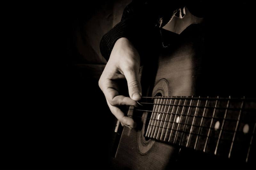
POLYGON ((180 35, 165 31, 166 39, 175 44, 144 63, 142 106, 127 112, 137 128, 118 129, 114 168, 244 169, 255 165, 253 68, 237 67, 243 62, 230 61, 228 56, 211 58, 215 52, 204 50, 208 47, 202 32, 200 25, 191 25, 180 35))

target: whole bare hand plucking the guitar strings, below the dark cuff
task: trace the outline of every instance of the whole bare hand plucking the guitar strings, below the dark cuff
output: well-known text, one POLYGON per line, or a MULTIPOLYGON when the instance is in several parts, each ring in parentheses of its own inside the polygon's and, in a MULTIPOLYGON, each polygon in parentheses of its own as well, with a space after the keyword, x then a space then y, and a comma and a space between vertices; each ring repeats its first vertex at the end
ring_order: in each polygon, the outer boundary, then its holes
POLYGON ((127 38, 120 38, 112 49, 108 63, 102 72, 99 86, 104 93, 108 107, 122 126, 130 129, 136 127, 132 118, 125 116, 118 106, 138 106, 136 101, 141 99, 141 85, 139 80, 140 55, 127 38), (129 96, 120 94, 117 79, 127 80, 129 96))

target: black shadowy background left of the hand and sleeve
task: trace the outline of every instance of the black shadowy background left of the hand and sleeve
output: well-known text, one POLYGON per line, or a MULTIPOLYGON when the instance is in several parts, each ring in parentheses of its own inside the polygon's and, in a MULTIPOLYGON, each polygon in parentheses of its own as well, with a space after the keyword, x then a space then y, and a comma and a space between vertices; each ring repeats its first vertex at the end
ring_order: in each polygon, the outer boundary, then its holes
POLYGON ((98 86, 99 44, 121 19, 113 11, 125 4, 115 4, 3 5, 12 8, 7 38, 19 48, 3 57, 0 169, 110 168, 116 122, 98 86))

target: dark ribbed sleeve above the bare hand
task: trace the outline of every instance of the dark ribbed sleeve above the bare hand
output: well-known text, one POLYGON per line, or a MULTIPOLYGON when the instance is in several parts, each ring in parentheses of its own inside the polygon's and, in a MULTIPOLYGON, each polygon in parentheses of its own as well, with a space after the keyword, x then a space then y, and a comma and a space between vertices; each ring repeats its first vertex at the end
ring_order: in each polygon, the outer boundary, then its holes
POLYGON ((141 53, 149 44, 158 39, 158 30, 165 26, 184 8, 183 2, 133 0, 123 12, 121 21, 106 33, 100 41, 100 52, 108 61, 111 51, 119 38, 129 39, 141 53))

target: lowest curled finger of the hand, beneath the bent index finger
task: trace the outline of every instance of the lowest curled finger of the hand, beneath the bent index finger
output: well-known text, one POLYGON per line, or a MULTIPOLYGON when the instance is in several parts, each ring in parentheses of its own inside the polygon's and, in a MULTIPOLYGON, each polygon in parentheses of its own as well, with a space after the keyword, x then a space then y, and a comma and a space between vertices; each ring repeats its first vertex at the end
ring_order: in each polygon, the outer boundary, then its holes
POLYGON ((136 127, 136 123, 133 121, 131 117, 125 116, 124 113, 118 107, 110 105, 108 100, 107 103, 110 111, 113 113, 113 115, 116 116, 116 118, 121 122, 121 124, 131 128, 136 127))

